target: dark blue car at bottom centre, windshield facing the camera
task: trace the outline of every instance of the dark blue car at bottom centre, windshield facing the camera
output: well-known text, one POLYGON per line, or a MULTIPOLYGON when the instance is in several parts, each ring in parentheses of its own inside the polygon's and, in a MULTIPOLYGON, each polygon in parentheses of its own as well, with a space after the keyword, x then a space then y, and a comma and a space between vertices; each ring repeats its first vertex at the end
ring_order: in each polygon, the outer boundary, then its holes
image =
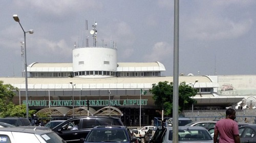
POLYGON ((133 137, 129 128, 125 126, 97 126, 94 127, 84 140, 87 142, 138 142, 136 137, 133 137))

